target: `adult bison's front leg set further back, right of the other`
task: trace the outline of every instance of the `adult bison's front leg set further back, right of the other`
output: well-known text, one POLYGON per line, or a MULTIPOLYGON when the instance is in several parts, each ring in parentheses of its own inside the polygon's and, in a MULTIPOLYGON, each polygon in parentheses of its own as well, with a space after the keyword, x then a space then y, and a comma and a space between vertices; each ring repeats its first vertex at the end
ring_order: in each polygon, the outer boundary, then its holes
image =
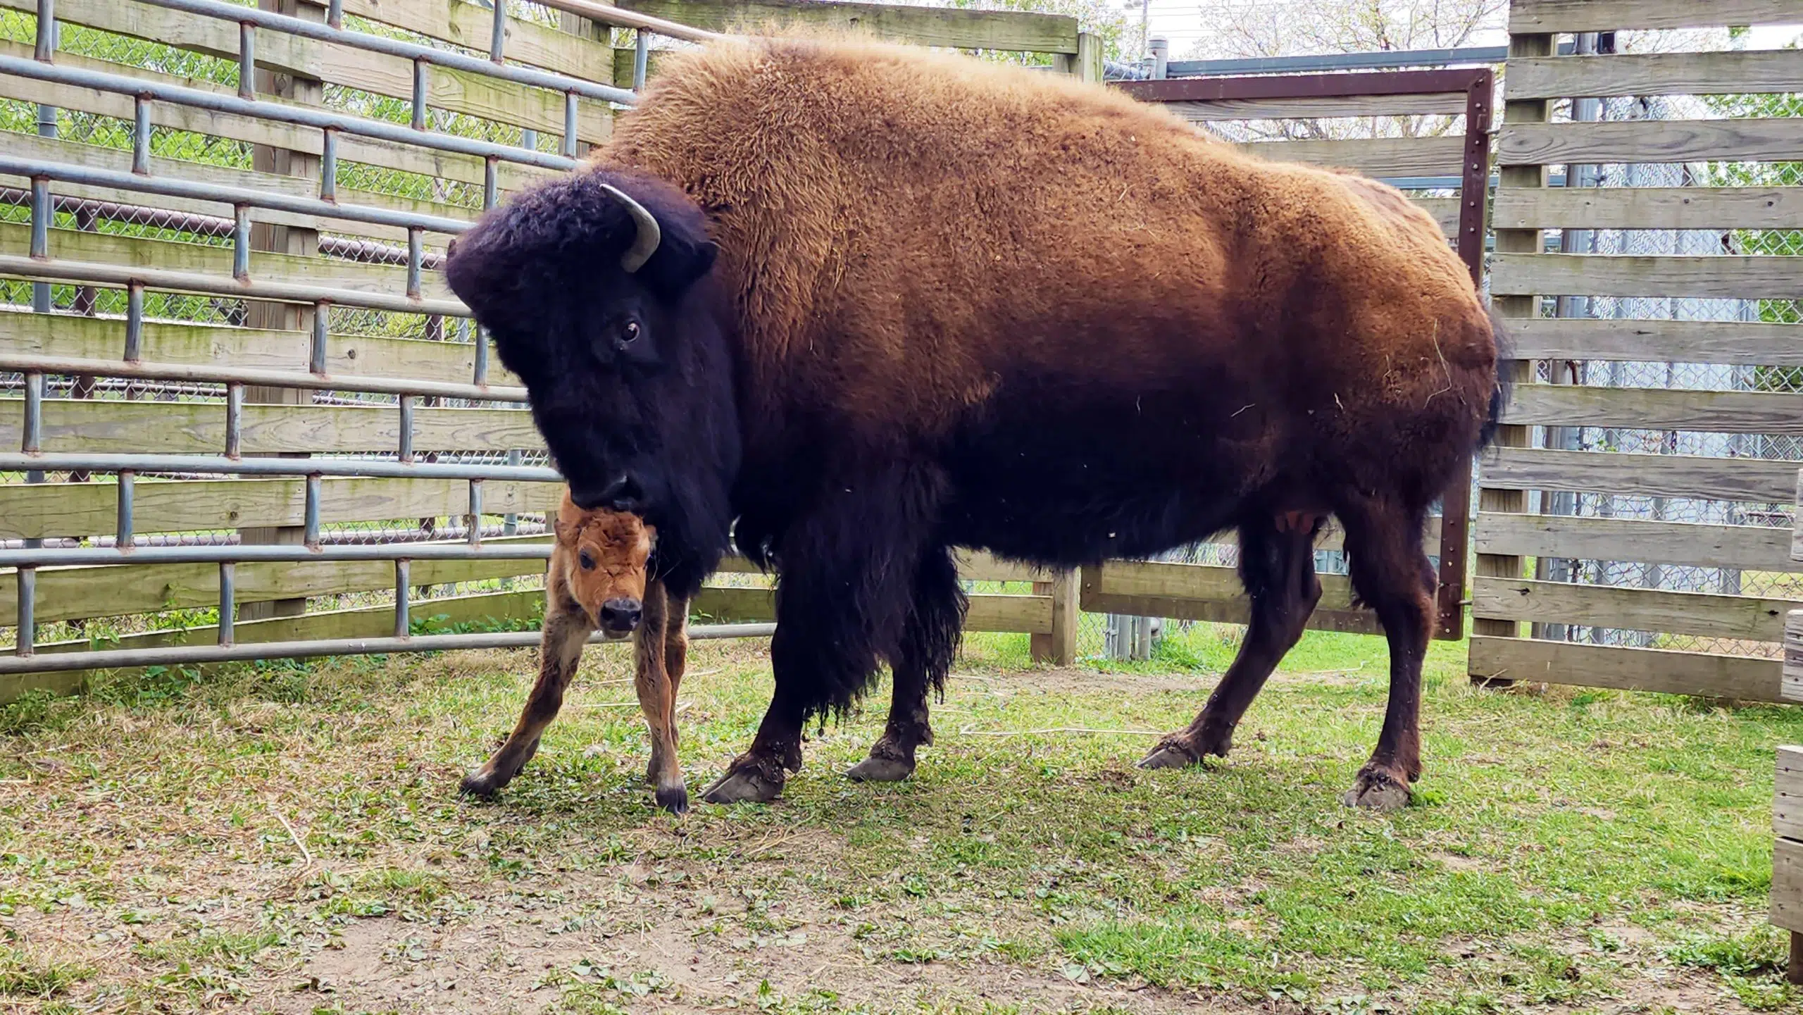
POLYGON ((932 743, 927 689, 945 692, 945 674, 952 669, 965 627, 965 590, 957 584, 957 562, 950 548, 927 550, 914 573, 914 604, 892 662, 889 721, 883 736, 871 745, 871 755, 846 772, 847 779, 900 782, 914 773, 914 748, 932 743))

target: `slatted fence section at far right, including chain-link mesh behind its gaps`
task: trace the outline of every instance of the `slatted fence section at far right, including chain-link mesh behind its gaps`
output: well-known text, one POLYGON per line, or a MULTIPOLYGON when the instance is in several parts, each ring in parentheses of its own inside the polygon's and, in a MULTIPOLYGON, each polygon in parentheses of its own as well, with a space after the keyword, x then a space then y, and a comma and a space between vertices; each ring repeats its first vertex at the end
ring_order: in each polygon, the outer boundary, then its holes
POLYGON ((1507 69, 1491 290, 1524 384, 1482 463, 1471 672, 1776 700, 1803 600, 1803 52, 1707 5, 1662 31, 1606 0, 1513 16, 1576 45, 1518 34, 1507 69))

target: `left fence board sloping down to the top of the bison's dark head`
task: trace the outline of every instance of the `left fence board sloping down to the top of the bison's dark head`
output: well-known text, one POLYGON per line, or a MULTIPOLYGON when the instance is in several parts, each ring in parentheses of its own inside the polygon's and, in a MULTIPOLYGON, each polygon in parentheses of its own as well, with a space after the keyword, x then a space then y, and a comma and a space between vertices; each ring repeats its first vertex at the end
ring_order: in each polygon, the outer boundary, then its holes
MULTIPOLYGON (((32 49, 29 43, 22 45, 16 41, 0 40, 0 54, 29 59, 32 49)), ((67 52, 58 52, 56 63, 59 67, 99 70, 103 74, 119 74, 128 70, 133 78, 142 78, 146 81, 162 81, 166 85, 198 88, 218 96, 238 94, 236 88, 213 85, 209 81, 175 78, 169 74, 157 74, 153 70, 142 70, 135 67, 121 69, 121 65, 117 63, 108 63, 105 59, 94 59, 67 52)), ((20 99, 27 103, 43 103, 87 114, 117 117, 128 123, 133 117, 132 96, 121 96, 117 92, 96 92, 92 88, 70 88, 63 85, 50 85, 45 81, 32 81, 29 78, 14 78, 9 74, 0 74, 0 97, 20 99)), ((310 126, 276 123, 269 119, 245 117, 236 114, 216 114, 209 110, 198 110, 193 106, 178 106, 175 103, 151 103, 150 123, 151 126, 157 128, 189 130, 195 133, 225 137, 231 141, 243 141, 249 144, 269 144, 272 148, 287 148, 308 155, 319 155, 321 146, 325 144, 321 139, 321 132, 310 126)), ((379 166, 382 169, 402 169, 407 173, 418 173, 422 177, 440 177, 445 180, 456 180, 460 184, 476 184, 476 186, 481 186, 487 171, 483 160, 476 159, 474 155, 433 151, 429 148, 418 148, 413 144, 395 144, 389 141, 373 141, 350 135, 339 137, 339 159, 346 162, 364 162, 370 166, 379 166)), ((555 169, 541 169, 537 166, 523 166, 519 162, 496 164, 496 184, 501 187, 501 191, 517 191, 525 186, 530 186, 534 182, 555 175, 559 175, 559 171, 555 169)))

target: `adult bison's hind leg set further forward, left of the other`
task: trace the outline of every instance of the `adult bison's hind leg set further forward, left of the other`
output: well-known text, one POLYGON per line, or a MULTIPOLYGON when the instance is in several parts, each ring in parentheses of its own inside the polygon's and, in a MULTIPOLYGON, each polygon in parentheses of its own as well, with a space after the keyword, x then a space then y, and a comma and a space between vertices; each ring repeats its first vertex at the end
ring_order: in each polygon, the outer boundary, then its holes
POLYGON ((1181 768, 1206 755, 1226 757, 1233 727, 1277 663, 1302 638, 1322 599, 1322 582, 1314 577, 1314 534, 1323 521, 1325 516, 1316 512, 1289 510, 1266 512, 1240 525, 1240 582, 1251 599, 1246 640, 1195 721, 1159 741, 1139 768, 1181 768))

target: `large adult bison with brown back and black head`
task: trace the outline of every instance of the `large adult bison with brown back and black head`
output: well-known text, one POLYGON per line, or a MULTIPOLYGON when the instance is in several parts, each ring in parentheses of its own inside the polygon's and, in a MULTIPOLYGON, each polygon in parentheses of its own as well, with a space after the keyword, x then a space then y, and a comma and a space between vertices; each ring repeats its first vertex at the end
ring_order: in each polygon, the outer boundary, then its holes
POLYGON ((1329 514, 1390 640, 1350 799, 1408 799, 1421 521, 1500 393, 1466 267, 1396 191, 1067 78, 716 43, 447 272, 577 503, 658 526, 673 595, 734 519, 781 577, 770 710, 705 799, 775 797, 804 723, 883 660, 889 725, 851 775, 912 770, 963 624, 952 546, 1075 566, 1237 528, 1240 654, 1143 764, 1224 754, 1320 599, 1329 514))

